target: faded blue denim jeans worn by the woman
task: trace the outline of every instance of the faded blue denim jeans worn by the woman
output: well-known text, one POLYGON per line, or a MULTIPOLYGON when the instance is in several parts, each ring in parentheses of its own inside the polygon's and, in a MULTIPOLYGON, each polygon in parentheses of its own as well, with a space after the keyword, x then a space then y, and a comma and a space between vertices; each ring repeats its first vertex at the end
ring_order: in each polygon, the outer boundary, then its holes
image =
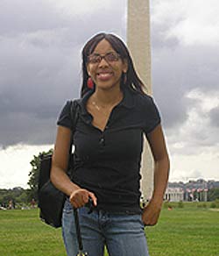
MULTIPOLYGON (((79 209, 79 221, 84 252, 88 256, 102 256, 104 245, 109 256, 149 256, 141 215, 111 214, 104 210, 79 209)), ((62 216, 62 235, 67 256, 76 256, 78 243, 74 224, 74 210, 67 200, 62 216)))

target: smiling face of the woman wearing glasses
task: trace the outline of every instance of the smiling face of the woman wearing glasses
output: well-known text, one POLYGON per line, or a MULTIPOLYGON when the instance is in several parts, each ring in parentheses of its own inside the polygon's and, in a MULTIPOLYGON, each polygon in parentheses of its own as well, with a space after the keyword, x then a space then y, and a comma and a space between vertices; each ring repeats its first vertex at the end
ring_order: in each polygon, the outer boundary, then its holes
POLYGON ((120 58, 106 39, 102 39, 88 57, 88 75, 98 89, 120 87, 121 75, 126 73, 127 69, 127 61, 120 58))

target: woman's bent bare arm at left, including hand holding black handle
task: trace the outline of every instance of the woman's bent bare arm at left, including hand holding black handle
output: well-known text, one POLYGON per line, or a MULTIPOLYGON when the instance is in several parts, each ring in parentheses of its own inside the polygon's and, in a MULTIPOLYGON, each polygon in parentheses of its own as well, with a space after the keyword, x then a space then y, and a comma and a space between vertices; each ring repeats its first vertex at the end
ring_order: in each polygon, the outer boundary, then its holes
POLYGON ((87 189, 80 188, 72 182, 67 176, 67 166, 69 158, 69 147, 71 139, 71 130, 58 126, 51 168, 51 181, 53 185, 69 196, 70 202, 78 208, 88 203, 90 196, 96 205, 96 197, 87 189))

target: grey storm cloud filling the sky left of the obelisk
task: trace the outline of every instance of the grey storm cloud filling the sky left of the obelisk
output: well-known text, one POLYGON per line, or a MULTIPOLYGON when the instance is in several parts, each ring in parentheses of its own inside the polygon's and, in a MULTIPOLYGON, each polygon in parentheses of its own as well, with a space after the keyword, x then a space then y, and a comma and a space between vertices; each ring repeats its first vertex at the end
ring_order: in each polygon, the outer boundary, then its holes
POLYGON ((107 12, 104 4, 80 9, 75 3, 70 11, 54 1, 1 4, 2 146, 53 143, 61 106, 79 97, 83 44, 99 31, 124 37, 125 1, 117 9, 111 4, 107 12))

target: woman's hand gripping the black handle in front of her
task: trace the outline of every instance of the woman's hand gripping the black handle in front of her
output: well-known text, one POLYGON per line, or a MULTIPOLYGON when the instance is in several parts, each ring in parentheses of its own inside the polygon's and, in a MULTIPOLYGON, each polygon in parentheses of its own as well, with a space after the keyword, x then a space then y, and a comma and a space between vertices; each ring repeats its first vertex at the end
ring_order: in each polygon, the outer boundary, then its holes
POLYGON ((74 208, 80 208, 84 206, 84 204, 88 203, 89 197, 92 199, 94 205, 96 206, 97 199, 95 197, 95 194, 83 188, 74 190, 74 192, 72 192, 72 194, 69 196, 69 200, 74 208))

